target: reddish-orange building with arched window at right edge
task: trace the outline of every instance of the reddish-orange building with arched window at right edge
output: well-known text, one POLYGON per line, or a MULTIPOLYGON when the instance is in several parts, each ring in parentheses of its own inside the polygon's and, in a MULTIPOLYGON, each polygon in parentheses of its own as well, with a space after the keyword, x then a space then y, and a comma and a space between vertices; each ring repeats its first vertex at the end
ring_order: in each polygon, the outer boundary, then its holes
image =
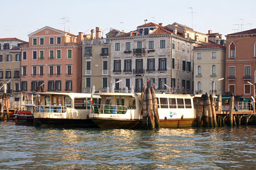
POLYGON ((255 76, 256 28, 226 35, 225 91, 254 96, 255 76))

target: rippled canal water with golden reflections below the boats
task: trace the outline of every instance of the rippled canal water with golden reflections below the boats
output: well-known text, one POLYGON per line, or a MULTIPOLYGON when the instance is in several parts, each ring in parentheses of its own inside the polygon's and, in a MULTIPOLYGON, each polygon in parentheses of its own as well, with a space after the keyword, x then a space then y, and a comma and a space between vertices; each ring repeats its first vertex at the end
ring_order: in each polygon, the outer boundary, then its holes
POLYGON ((0 169, 255 169, 256 127, 60 129, 0 122, 0 169))

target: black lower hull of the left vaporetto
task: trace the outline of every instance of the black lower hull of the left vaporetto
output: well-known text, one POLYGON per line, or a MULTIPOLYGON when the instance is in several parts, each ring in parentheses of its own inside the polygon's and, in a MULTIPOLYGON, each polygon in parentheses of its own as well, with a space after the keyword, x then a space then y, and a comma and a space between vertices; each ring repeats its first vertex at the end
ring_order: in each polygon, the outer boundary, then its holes
POLYGON ((72 128, 97 128, 89 119, 67 119, 67 118, 34 118, 35 126, 57 126, 72 128))

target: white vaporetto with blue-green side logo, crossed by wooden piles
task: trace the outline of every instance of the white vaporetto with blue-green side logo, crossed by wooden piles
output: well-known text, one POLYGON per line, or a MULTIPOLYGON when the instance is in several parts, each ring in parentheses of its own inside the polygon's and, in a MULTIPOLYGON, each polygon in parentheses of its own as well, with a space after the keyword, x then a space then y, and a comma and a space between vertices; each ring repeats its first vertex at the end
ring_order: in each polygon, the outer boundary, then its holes
MULTIPOLYGON (((141 128, 141 94, 96 93, 101 103, 92 105, 89 118, 101 128, 141 128)), ((196 115, 191 95, 156 94, 161 128, 195 125, 196 115)))

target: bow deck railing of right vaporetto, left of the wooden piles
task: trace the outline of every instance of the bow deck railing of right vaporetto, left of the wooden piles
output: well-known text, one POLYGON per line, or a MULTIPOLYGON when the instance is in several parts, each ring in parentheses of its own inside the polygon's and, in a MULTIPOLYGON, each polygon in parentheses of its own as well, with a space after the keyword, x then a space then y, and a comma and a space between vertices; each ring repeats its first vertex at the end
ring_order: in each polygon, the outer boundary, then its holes
POLYGON ((108 104, 94 104, 90 105, 90 113, 101 114, 125 114, 127 107, 125 105, 108 105, 108 104))

